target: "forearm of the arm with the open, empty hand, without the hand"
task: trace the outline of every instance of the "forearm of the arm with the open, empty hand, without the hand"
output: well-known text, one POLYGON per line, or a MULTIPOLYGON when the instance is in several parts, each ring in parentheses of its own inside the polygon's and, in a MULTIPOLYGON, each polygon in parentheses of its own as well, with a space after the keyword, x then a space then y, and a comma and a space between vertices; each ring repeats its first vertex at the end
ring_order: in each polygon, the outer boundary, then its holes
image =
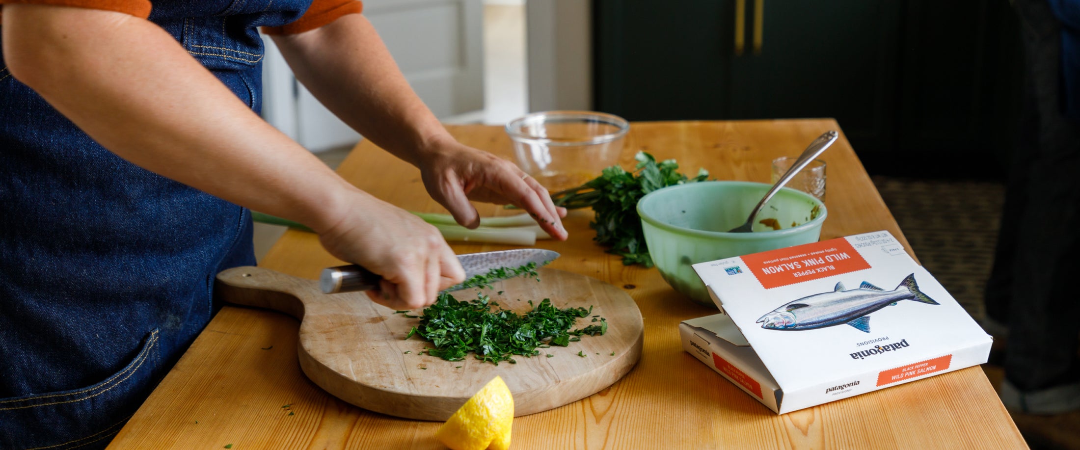
POLYGON ((418 165, 426 151, 453 140, 363 15, 348 14, 319 29, 273 39, 297 79, 379 147, 418 165))

